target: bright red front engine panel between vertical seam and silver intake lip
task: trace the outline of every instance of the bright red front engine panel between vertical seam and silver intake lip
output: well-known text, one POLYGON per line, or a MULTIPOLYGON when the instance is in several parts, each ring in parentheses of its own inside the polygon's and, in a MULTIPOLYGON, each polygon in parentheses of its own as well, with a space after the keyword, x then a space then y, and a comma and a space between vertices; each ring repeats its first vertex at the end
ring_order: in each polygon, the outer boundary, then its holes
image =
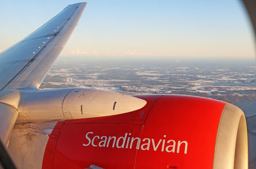
POLYGON ((174 140, 175 152, 138 150, 135 168, 212 169, 219 119, 225 104, 194 96, 161 97, 148 114, 140 137, 174 140), (177 153, 178 141, 187 141, 187 154, 184 145, 177 153))

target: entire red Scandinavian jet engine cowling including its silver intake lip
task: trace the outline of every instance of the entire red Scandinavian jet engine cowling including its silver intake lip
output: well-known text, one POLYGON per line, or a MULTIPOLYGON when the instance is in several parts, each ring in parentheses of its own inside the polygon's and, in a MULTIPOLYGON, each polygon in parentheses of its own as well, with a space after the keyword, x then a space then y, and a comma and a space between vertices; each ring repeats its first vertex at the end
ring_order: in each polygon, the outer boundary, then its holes
POLYGON ((136 96, 140 110, 57 123, 42 168, 247 168, 243 112, 184 95, 136 96))

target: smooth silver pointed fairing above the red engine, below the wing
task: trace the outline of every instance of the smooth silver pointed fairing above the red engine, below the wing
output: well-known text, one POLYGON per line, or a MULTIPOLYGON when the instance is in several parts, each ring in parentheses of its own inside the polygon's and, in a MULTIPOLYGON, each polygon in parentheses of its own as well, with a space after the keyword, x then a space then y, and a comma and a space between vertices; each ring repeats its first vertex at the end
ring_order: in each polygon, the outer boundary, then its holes
POLYGON ((0 103, 9 104, 18 110, 16 123, 40 123, 116 115, 138 110, 147 102, 137 97, 97 89, 65 88, 3 90, 0 92, 0 103))

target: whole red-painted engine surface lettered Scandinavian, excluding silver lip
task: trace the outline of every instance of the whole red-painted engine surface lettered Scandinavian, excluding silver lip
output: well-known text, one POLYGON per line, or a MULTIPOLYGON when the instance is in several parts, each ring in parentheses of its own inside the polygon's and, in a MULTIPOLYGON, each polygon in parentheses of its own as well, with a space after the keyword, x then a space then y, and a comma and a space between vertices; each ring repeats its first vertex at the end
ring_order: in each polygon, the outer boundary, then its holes
MULTIPOLYGON (((136 97, 147 101, 140 110, 101 118, 67 120, 61 126, 58 140, 54 140, 56 147, 51 146, 54 143, 49 143, 53 142, 49 139, 43 168, 51 165, 53 168, 67 169, 83 169, 90 165, 104 169, 212 168, 215 139, 225 102, 184 95, 136 97), (91 141, 96 136, 95 146, 89 144, 87 133, 91 141), (116 142, 113 145, 113 140, 108 147, 99 147, 103 139, 97 136, 114 136, 118 139, 125 137, 126 133, 127 139, 130 138, 127 148, 127 143, 118 148, 116 142), (130 148, 132 137, 141 139, 138 149, 137 140, 130 148), (178 141, 183 141, 179 149, 178 141), (184 141, 187 142, 187 152, 184 141), (167 152, 167 146, 168 151, 174 152, 167 152), (54 158, 47 153, 52 151, 54 158)), ((122 145, 121 140, 118 146, 122 145)))

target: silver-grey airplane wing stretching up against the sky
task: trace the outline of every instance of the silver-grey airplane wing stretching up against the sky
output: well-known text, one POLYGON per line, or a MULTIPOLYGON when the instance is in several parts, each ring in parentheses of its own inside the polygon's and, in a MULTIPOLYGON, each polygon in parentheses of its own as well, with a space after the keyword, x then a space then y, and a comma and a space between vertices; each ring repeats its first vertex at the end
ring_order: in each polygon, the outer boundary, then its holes
POLYGON ((0 91, 38 89, 74 31, 86 5, 68 5, 43 26, 0 53, 0 91))

